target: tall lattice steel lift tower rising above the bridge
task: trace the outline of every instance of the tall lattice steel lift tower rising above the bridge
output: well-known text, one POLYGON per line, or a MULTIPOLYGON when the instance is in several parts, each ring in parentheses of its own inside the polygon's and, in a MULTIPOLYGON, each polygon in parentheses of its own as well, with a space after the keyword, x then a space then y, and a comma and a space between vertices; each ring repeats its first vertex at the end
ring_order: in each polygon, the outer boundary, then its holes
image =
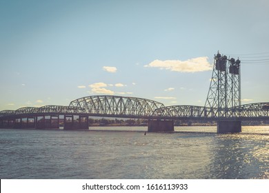
POLYGON ((233 108, 241 105, 240 63, 239 59, 228 59, 219 52, 215 55, 205 104, 205 107, 210 108, 210 112, 205 112, 206 116, 235 116, 233 108))

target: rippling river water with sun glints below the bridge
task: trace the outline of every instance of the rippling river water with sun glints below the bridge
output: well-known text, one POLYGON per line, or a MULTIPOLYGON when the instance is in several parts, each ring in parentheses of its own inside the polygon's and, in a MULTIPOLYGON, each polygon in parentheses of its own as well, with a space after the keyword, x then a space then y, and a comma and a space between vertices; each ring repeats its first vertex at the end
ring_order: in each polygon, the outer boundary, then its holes
POLYGON ((0 130, 1 179, 269 179, 269 126, 0 130))

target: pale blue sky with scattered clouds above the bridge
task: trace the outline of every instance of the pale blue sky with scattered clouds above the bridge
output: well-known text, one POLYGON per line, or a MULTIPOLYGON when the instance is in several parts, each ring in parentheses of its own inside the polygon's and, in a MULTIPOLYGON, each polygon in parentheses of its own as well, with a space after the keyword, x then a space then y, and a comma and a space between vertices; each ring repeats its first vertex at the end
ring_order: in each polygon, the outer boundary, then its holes
POLYGON ((112 94, 206 102, 214 55, 269 101, 269 1, 0 0, 0 110, 112 94))

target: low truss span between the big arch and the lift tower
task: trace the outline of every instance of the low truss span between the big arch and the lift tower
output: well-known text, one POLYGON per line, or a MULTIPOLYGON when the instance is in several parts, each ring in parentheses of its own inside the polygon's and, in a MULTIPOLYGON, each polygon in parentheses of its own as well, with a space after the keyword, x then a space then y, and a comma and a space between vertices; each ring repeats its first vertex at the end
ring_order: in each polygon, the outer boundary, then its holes
POLYGON ((192 105, 173 105, 155 110, 154 116, 163 118, 199 118, 208 116, 210 108, 192 105))

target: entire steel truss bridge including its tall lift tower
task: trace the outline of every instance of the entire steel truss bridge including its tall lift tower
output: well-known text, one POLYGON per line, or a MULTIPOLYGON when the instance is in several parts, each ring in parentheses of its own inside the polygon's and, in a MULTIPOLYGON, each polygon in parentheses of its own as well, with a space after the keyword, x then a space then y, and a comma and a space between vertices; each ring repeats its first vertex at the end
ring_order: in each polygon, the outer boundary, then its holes
POLYGON ((2 110, 0 128, 59 128, 59 116, 64 116, 66 129, 88 128, 89 116, 149 120, 262 121, 269 120, 269 102, 241 105, 240 61, 228 59, 218 52, 205 106, 165 106, 158 101, 137 97, 86 96, 71 101, 68 106, 45 105, 41 108, 2 110))

